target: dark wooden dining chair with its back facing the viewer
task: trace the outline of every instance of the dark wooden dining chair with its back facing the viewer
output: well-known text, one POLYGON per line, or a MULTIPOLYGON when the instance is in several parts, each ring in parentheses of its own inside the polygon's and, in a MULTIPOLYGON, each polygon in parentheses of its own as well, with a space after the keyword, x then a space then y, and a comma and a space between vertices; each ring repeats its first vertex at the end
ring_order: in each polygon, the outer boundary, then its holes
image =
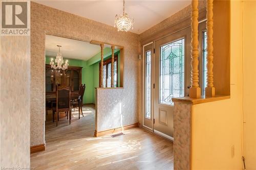
POLYGON ((59 112, 67 112, 71 124, 70 86, 57 86, 56 107, 53 110, 57 115, 56 126, 58 126, 59 112))

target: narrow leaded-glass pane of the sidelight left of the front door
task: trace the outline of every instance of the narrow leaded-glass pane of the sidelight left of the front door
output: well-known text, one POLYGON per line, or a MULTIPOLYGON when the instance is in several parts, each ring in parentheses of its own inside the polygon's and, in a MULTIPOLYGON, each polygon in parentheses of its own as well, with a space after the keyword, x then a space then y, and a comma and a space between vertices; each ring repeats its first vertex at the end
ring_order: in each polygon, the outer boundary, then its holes
POLYGON ((151 51, 146 52, 146 114, 151 118, 151 51))

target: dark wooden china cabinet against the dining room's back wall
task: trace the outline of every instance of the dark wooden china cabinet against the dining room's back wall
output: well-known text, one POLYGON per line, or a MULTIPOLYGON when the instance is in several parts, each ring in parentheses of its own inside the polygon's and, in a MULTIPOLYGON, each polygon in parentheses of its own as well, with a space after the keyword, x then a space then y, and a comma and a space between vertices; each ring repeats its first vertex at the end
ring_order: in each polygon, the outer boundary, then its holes
POLYGON ((46 94, 56 93, 57 86, 71 86, 71 93, 78 93, 82 84, 82 67, 68 66, 66 70, 53 69, 46 64, 46 94))

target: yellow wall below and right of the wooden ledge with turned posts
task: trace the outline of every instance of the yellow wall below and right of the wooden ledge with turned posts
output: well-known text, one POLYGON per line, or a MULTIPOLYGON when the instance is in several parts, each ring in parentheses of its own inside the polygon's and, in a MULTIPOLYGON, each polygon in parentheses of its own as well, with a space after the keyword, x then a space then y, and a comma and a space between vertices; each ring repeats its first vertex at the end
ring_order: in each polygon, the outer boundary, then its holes
POLYGON ((242 169, 242 2, 230 3, 230 99, 193 106, 192 169, 242 169))

